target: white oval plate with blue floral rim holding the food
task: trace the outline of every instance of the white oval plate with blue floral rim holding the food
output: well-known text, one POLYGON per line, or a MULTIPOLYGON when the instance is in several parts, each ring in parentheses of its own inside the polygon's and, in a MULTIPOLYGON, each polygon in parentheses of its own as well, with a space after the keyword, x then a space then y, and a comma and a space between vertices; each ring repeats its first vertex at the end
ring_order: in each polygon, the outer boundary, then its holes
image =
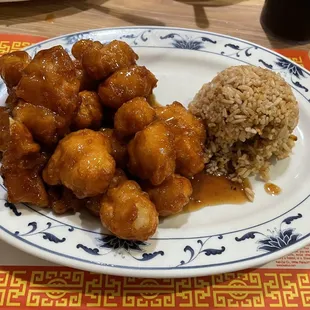
MULTIPOLYGON (((310 243, 310 74, 281 55, 240 39, 198 30, 130 27, 80 32, 27 48, 40 49, 91 38, 124 40, 159 80, 161 104, 185 106, 218 72, 251 64, 283 75, 300 103, 298 142, 291 158, 272 167, 277 197, 252 180, 254 203, 208 207, 163 220, 147 242, 120 240, 88 213, 56 216, 28 205, 6 202, 1 185, 1 238, 33 255, 62 265, 95 272, 140 277, 187 277, 262 265, 310 243)), ((0 101, 6 89, 0 84, 0 101)))

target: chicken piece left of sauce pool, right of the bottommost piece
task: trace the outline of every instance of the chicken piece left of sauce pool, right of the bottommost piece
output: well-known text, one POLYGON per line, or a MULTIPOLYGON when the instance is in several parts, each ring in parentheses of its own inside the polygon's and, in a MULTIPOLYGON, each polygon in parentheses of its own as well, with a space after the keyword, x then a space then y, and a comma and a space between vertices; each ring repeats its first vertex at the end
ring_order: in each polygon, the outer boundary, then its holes
POLYGON ((191 182, 180 175, 173 174, 159 186, 148 185, 145 191, 155 204, 160 216, 177 214, 188 204, 193 193, 191 182))

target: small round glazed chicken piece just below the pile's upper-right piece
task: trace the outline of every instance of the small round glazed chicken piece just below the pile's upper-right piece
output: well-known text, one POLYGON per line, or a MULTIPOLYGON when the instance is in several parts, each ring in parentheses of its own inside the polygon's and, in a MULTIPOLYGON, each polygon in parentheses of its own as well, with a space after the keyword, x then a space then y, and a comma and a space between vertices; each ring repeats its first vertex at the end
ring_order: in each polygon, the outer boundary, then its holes
POLYGON ((155 110, 145 98, 137 97, 125 102, 115 113, 114 128, 119 136, 134 135, 144 129, 156 116, 155 110))

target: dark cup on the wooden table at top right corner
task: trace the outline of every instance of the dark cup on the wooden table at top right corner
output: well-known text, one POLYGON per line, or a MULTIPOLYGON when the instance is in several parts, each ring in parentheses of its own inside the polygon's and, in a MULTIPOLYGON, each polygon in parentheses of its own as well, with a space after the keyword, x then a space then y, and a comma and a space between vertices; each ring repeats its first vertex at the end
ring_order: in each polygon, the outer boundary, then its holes
POLYGON ((261 24, 267 33, 284 40, 310 40, 310 0, 265 0, 261 24))

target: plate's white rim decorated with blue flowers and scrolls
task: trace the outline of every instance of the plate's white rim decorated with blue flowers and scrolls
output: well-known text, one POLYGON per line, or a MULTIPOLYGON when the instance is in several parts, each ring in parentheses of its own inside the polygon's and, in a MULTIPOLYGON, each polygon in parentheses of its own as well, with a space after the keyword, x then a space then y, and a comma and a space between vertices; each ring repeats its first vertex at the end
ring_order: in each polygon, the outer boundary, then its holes
MULTIPOLYGON (((236 59, 245 64, 260 65, 282 74, 295 91, 305 100, 310 101, 310 74, 307 70, 294 64, 285 57, 253 43, 199 30, 158 27, 98 29, 50 39, 31 46, 27 50, 30 54, 34 54, 42 48, 54 45, 57 40, 58 44, 62 44, 69 51, 69 47, 82 38, 99 39, 101 41, 122 39, 133 47, 182 49, 193 51, 194 53, 206 52, 236 59), (264 53, 268 57, 261 57, 264 53)), ((3 91, 4 87, 0 83, 0 95, 3 91)), ((0 228, 7 233, 8 237, 5 239, 8 242, 21 248, 24 244, 26 245, 25 250, 28 252, 31 252, 32 248, 35 247, 40 252, 36 254, 44 258, 47 258, 46 252, 48 252, 52 255, 53 260, 58 262, 62 262, 62 258, 69 258, 70 260, 67 264, 77 268, 132 276, 158 276, 155 273, 156 270, 168 271, 168 273, 159 276, 177 277, 199 275, 213 273, 214 271, 212 270, 215 270, 215 267, 221 267, 221 270, 224 272, 243 268, 242 266, 249 267, 260 264, 291 252, 293 248, 297 249, 306 244, 310 233, 301 233, 298 231, 298 225, 296 228, 296 225, 292 222, 304 219, 300 207, 304 205, 304 202, 308 198, 309 196, 285 213, 254 227, 229 231, 223 234, 189 238, 151 238, 148 242, 128 242, 111 236, 108 233, 84 230, 61 222, 57 218, 51 218, 34 207, 23 205, 16 208, 16 206, 6 201, 4 201, 3 206, 5 207, 5 211, 10 212, 12 216, 22 218, 24 212, 28 214, 35 212, 41 216, 41 219, 39 222, 27 221, 27 225, 25 226, 30 227, 30 229, 23 227, 24 230, 21 229, 22 232, 11 231, 2 224, 0 228), (39 226, 42 227, 39 228, 39 226), (256 230, 253 230, 254 228, 256 230), (85 231, 89 235, 96 235, 95 238, 92 238, 94 243, 91 246, 85 244, 85 242, 74 244, 76 249, 76 252, 73 253, 74 255, 59 251, 57 245, 72 242, 74 238, 70 239, 70 236, 76 231, 85 231), (37 238, 41 238, 41 241, 38 242, 37 238), (234 243, 232 243, 232 240, 234 240, 234 243), (167 242, 167 244, 169 243, 171 245, 171 242, 175 244, 175 241, 179 243, 179 254, 176 260, 170 259, 169 256, 172 254, 166 250, 166 246, 165 250, 163 250, 153 245, 157 242, 167 242), (251 246, 255 245, 255 251, 253 251, 252 255, 240 258, 239 260, 225 261, 224 259, 224 261, 218 262, 217 257, 223 257, 229 251, 232 251, 232 248, 245 243, 247 243, 246 246, 249 244, 251 246), (95 261, 93 259, 93 257, 105 258, 108 255, 114 257, 120 256, 122 260, 125 258, 126 262, 132 259, 133 263, 114 264, 113 259, 112 262, 106 261, 106 259, 102 259, 101 261, 95 261), (270 259, 264 258, 267 256, 270 256, 270 259), (249 263, 245 263, 248 261, 249 263), (235 267, 238 266, 238 263, 245 264, 235 267), (179 274, 169 272, 171 270, 182 269, 183 271, 179 274), (197 269, 203 269, 203 271, 197 273, 197 271, 194 271, 197 269), (146 270, 147 273, 144 273, 143 270, 146 270)))

